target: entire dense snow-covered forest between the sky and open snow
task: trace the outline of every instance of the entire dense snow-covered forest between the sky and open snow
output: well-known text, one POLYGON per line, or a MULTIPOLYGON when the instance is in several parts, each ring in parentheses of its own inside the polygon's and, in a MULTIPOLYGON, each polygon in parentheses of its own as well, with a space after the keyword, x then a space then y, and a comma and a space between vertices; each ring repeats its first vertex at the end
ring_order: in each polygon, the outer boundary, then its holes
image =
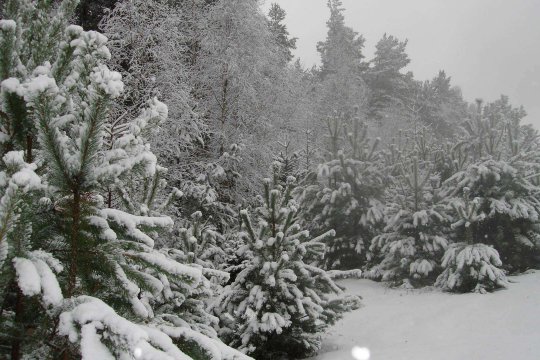
POLYGON ((394 35, 366 58, 328 8, 304 69, 277 4, 4 2, 0 357, 299 358, 359 305, 334 277, 540 265, 525 111, 415 79, 394 35))

